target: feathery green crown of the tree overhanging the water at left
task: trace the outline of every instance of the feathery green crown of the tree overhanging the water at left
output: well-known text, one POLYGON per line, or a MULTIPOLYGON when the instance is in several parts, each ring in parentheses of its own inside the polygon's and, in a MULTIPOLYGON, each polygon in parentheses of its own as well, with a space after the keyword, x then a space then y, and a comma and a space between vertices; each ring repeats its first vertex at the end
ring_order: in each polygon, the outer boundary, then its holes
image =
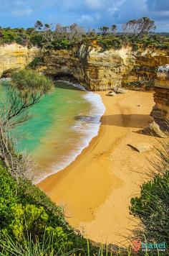
POLYGON ((8 104, 1 111, 1 127, 14 126, 24 122, 28 109, 37 104, 44 93, 54 88, 54 83, 36 70, 16 70, 7 86, 8 104))

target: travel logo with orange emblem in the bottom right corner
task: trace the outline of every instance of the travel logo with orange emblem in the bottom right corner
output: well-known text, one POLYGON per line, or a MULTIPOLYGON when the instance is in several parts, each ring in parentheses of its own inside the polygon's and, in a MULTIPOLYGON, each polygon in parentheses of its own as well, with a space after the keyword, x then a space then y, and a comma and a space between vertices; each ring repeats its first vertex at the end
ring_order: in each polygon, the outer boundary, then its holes
POLYGON ((132 250, 134 252, 138 252, 139 250, 142 250, 143 252, 150 252, 151 250, 158 250, 160 252, 164 252, 166 249, 166 244, 165 242, 160 242, 160 243, 146 243, 146 242, 141 242, 139 240, 134 240, 132 242, 132 250))

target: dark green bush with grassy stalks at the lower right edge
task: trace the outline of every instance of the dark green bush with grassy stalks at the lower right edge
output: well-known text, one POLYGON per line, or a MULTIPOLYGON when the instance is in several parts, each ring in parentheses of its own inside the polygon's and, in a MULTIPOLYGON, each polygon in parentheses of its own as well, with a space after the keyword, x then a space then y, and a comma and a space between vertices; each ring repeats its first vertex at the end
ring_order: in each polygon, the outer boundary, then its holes
POLYGON ((143 223, 138 235, 148 241, 169 244, 169 142, 157 151, 152 160, 156 171, 150 171, 151 180, 141 186, 140 197, 131 199, 130 211, 143 223), (152 179, 153 175, 153 179, 152 179))

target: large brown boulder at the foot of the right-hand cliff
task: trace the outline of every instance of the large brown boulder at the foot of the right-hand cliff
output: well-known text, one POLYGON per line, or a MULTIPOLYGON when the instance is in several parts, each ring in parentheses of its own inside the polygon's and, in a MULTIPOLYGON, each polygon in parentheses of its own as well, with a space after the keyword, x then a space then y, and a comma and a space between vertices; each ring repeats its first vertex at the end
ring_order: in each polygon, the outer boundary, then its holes
POLYGON ((155 122, 152 122, 151 124, 149 124, 148 127, 145 127, 145 129, 143 129, 142 132, 145 135, 150 135, 154 137, 159 137, 159 138, 166 137, 165 133, 160 130, 160 126, 155 122))

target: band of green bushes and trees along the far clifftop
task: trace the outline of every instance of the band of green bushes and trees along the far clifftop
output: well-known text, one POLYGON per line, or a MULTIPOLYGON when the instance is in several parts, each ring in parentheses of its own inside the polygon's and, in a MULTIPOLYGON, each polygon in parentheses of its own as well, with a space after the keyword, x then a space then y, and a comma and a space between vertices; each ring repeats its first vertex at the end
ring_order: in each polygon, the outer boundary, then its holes
POLYGON ((77 44, 93 44, 93 41, 100 45, 103 50, 110 48, 119 49, 122 45, 132 45, 134 50, 139 47, 169 47, 168 34, 162 35, 153 32, 155 22, 148 17, 132 19, 122 24, 122 29, 117 32, 117 26, 103 26, 98 29, 86 31, 77 24, 62 26, 57 24, 42 24, 37 21, 34 27, 28 29, 0 28, 0 44, 16 42, 19 45, 28 47, 37 46, 43 49, 70 49, 77 44))

